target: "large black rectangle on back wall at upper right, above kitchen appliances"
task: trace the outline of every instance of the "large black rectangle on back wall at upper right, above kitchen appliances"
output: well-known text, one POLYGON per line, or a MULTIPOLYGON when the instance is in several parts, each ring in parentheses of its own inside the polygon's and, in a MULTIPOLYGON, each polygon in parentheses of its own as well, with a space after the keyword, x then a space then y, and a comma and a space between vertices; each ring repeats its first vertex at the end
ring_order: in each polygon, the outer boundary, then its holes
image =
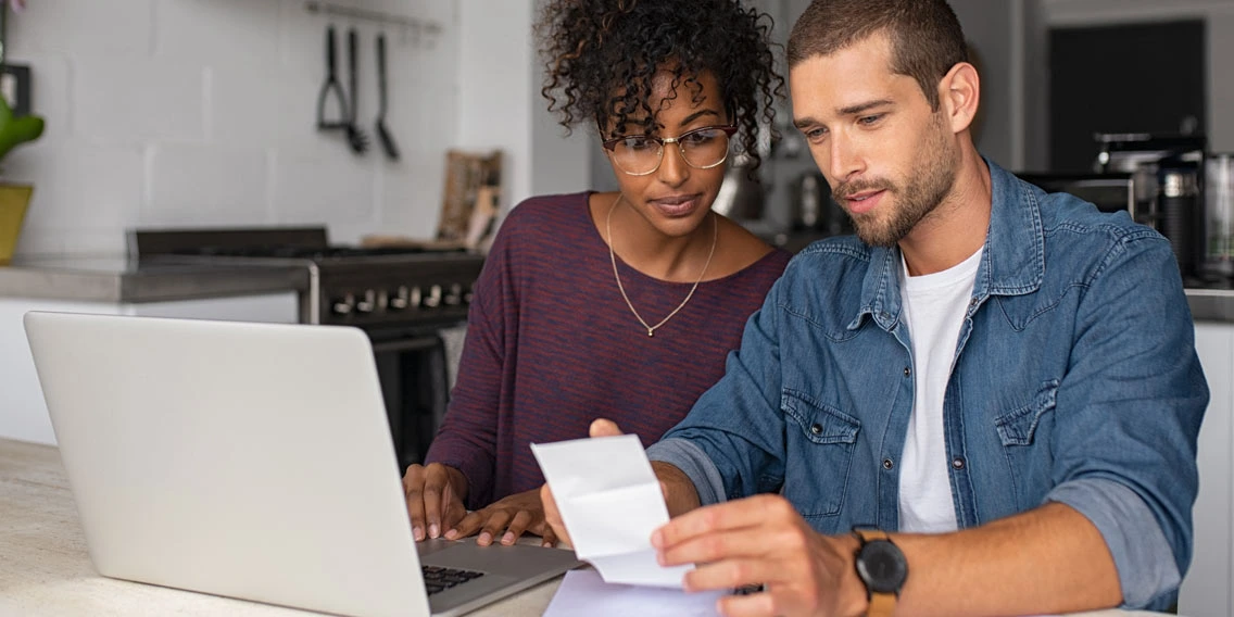
POLYGON ((1093 133, 1204 135, 1202 20, 1050 30, 1050 168, 1090 172, 1093 133))

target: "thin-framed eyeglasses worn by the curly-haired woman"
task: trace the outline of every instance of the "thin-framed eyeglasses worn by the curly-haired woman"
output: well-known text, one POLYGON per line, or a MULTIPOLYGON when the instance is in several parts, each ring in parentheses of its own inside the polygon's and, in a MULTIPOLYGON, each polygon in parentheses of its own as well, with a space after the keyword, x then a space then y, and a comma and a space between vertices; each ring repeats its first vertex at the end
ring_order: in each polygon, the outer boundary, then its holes
POLYGON ((719 165, 728 158, 728 138, 735 132, 735 126, 705 126, 677 137, 629 135, 606 139, 603 144, 617 169, 629 175, 650 175, 664 162, 666 143, 677 144, 681 158, 695 169, 719 165))

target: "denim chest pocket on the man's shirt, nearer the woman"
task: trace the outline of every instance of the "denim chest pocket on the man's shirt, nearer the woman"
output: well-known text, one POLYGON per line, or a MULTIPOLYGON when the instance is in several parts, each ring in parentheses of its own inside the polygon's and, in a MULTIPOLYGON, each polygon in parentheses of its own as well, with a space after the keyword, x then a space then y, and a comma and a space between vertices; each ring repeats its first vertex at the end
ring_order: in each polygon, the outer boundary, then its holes
POLYGON ((807 518, 838 515, 861 422, 796 390, 784 391, 781 406, 792 420, 784 496, 807 518))

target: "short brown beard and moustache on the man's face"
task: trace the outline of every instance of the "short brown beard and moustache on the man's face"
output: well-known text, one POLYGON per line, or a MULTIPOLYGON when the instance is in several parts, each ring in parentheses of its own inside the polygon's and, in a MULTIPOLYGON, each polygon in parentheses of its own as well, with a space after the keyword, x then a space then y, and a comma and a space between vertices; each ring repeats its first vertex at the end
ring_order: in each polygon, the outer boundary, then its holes
POLYGON ((895 207, 890 213, 881 211, 885 209, 882 205, 872 212, 856 216, 849 213, 861 242, 871 247, 896 246, 951 191, 955 184, 958 153, 948 142, 949 133, 943 130, 942 112, 934 114, 930 128, 932 137, 927 141, 923 155, 913 167, 903 188, 882 178, 855 180, 835 188, 837 199, 869 190, 885 190, 887 196, 895 200, 890 204, 895 207))

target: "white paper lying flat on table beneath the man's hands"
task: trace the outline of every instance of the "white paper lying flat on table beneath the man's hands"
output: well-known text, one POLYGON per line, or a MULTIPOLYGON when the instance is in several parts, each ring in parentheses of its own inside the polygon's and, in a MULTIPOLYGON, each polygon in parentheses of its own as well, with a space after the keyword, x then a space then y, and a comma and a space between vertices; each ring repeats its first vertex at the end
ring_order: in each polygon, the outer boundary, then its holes
POLYGON ((595 570, 570 570, 549 602, 544 617, 713 617, 724 594, 612 585, 595 570))

